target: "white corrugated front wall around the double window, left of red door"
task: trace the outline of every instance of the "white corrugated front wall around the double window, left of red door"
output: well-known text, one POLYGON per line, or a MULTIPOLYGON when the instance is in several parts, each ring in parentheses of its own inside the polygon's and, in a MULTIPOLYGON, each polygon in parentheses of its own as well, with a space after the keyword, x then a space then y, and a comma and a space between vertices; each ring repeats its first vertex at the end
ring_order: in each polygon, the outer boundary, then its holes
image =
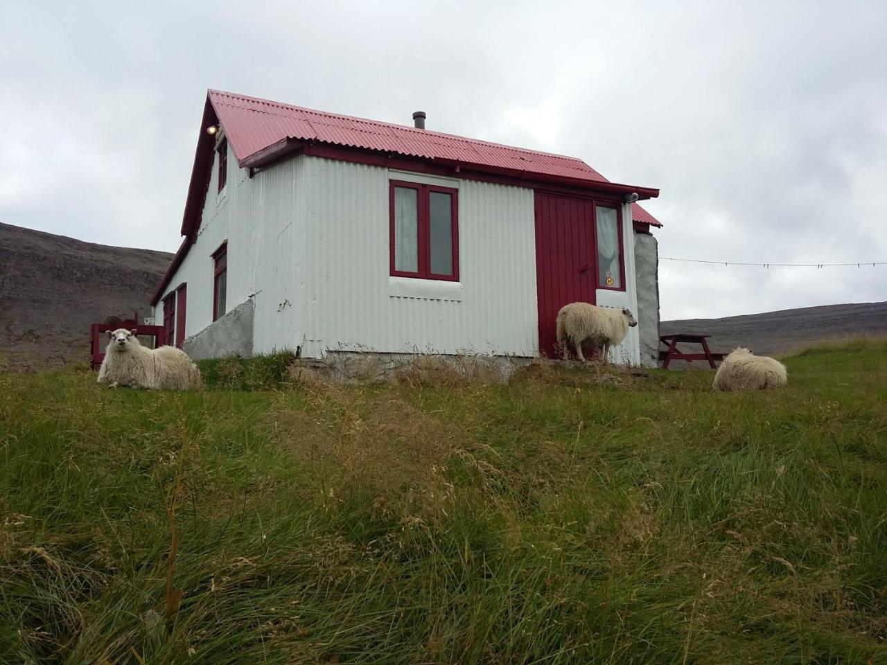
POLYGON ((537 352, 533 192, 307 160, 306 356, 537 352), (459 278, 389 278, 389 179, 459 189, 459 278))

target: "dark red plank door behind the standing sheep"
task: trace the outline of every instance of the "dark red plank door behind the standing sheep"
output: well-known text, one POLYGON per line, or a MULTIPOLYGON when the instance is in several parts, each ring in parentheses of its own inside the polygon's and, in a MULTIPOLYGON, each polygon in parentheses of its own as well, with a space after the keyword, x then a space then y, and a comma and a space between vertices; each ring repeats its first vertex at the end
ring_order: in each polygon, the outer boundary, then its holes
POLYGON ((558 356, 554 348, 558 310, 568 302, 595 303, 594 275, 592 201, 536 192, 536 288, 543 356, 558 356))

